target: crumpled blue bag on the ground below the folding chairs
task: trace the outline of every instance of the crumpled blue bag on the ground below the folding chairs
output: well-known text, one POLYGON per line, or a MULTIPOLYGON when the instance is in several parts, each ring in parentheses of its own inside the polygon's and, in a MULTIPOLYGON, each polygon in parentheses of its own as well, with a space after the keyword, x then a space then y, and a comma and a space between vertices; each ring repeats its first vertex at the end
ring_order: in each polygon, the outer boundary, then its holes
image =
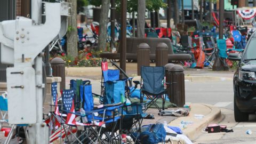
POLYGON ((154 144, 165 141, 166 131, 161 123, 143 126, 145 131, 139 135, 141 143, 154 144))

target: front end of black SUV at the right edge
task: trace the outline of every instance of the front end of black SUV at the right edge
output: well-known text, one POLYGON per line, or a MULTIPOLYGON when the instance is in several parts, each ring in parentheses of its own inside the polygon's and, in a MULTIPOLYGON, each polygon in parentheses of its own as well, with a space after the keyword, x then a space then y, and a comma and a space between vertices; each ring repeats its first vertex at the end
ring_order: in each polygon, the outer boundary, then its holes
POLYGON ((256 111, 256 33, 253 33, 243 53, 229 55, 238 60, 234 74, 234 115, 236 122, 246 122, 256 111), (234 57, 235 56, 235 57, 234 57))

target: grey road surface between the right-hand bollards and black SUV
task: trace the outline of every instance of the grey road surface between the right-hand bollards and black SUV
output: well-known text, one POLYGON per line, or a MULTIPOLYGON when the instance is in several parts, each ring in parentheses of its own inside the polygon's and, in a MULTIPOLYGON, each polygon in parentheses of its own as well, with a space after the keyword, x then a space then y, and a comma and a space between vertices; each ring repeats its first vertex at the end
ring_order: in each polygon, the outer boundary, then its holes
POLYGON ((235 122, 233 81, 225 79, 207 82, 187 81, 185 86, 186 102, 209 103, 220 107, 222 119, 212 123, 227 125, 227 129, 234 130, 230 133, 207 133, 201 130, 200 136, 194 143, 256 143, 256 116, 250 115, 249 122, 235 122), (246 134, 247 130, 251 130, 252 134, 246 134))

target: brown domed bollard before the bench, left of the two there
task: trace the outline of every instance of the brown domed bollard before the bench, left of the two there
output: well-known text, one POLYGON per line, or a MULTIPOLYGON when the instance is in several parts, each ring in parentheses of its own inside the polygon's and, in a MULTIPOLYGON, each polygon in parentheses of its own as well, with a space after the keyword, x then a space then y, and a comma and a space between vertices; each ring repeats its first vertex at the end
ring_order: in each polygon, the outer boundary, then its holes
POLYGON ((149 66, 150 47, 146 43, 139 44, 137 48, 137 75, 140 76, 141 66, 149 66))

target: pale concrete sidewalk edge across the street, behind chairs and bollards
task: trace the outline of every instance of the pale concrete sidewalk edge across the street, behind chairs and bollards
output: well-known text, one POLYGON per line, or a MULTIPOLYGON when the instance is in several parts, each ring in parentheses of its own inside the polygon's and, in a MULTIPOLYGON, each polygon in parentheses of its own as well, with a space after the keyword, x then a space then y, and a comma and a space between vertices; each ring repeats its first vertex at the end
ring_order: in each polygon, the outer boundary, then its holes
MULTIPOLYGON (((117 63, 119 65, 119 63, 117 63)), ((155 63, 150 63, 150 66, 155 66, 155 63)), ((115 66, 108 65, 109 69, 116 69, 115 66)), ((101 79, 101 67, 66 67, 66 76, 81 77, 98 80, 101 79)), ((126 74, 130 77, 136 78, 137 63, 126 63, 126 74)), ((231 81, 233 79, 234 71, 212 71, 212 69, 185 69, 185 79, 189 81, 231 81)), ((136 78, 140 79, 140 77, 136 78)))

